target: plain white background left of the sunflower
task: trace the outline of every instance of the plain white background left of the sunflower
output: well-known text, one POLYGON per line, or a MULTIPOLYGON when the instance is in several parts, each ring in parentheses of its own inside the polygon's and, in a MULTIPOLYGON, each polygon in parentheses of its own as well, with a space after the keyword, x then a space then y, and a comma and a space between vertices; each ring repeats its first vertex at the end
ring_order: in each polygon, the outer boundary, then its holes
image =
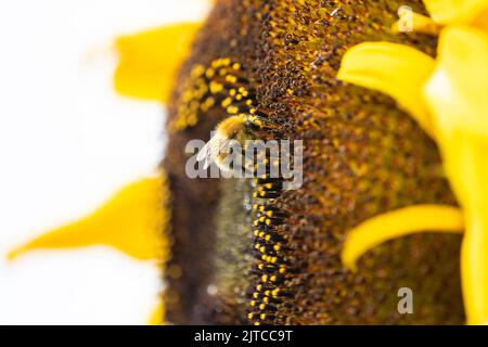
POLYGON ((0 323, 143 324, 153 264, 116 250, 9 249, 84 216, 151 175, 164 107, 112 90, 119 34, 202 18, 205 0, 16 0, 0 4, 0 323))

